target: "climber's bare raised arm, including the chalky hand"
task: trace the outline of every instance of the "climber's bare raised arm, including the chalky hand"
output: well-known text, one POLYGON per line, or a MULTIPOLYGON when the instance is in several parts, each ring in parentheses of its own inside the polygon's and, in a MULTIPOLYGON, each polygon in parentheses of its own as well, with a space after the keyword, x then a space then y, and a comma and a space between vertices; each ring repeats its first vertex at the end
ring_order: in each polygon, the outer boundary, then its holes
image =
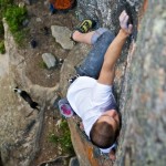
POLYGON ((127 37, 132 33, 133 25, 128 24, 128 15, 126 11, 123 11, 120 15, 121 30, 116 38, 113 40, 108 46, 105 56, 103 66, 100 73, 98 82, 102 84, 112 85, 114 81, 114 68, 117 59, 121 55, 123 45, 127 37))

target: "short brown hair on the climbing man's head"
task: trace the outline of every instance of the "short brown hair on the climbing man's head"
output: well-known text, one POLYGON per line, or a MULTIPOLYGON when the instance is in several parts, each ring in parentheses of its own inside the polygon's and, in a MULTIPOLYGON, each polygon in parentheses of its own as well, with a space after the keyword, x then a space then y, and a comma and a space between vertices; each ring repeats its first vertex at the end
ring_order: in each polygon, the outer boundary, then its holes
POLYGON ((100 148, 108 148, 115 143, 118 129, 114 132, 107 122, 95 122, 90 132, 91 142, 100 148))

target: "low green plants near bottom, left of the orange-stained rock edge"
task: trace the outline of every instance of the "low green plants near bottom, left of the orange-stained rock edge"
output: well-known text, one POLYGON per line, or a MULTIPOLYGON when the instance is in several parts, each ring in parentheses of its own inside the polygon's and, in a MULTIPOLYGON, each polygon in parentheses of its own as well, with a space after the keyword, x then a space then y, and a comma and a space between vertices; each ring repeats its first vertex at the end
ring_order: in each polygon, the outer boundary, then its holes
POLYGON ((74 154, 71 133, 68 126, 68 122, 63 120, 60 124, 59 135, 54 133, 49 134, 49 141, 53 143, 55 146, 60 145, 63 153, 74 154))

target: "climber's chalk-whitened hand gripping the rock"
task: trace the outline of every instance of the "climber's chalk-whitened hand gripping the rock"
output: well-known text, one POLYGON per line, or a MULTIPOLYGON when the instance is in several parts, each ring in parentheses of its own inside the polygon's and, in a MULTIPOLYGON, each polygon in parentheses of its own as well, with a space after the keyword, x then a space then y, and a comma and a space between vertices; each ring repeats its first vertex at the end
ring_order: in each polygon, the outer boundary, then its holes
POLYGON ((132 33, 132 30, 133 30, 133 24, 128 24, 128 14, 126 13, 126 11, 124 10, 118 20, 120 20, 120 25, 121 25, 121 29, 126 33, 126 34, 131 34, 132 33))

